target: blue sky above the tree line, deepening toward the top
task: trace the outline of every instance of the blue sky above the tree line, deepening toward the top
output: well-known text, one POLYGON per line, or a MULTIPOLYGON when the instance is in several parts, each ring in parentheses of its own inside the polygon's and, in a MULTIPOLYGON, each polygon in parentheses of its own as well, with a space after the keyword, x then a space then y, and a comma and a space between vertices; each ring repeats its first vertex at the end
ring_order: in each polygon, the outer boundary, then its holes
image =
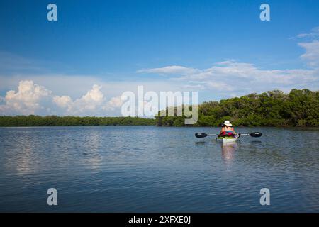
POLYGON ((0 111, 19 114, 6 92, 23 81, 72 102, 96 84, 106 103, 138 84, 198 90, 199 101, 318 89, 318 15, 315 0, 1 1, 0 111), (50 3, 58 21, 47 21, 50 3), (271 21, 259 20, 262 3, 271 21))

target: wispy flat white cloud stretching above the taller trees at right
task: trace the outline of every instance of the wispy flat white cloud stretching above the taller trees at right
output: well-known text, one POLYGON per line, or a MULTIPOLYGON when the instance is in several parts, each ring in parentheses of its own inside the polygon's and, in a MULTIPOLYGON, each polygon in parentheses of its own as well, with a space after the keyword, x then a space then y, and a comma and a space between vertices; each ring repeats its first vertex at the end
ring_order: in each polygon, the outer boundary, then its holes
MULTIPOLYGON (((159 71, 157 68, 156 72, 159 71)), ((315 69, 262 70, 250 63, 233 60, 217 62, 208 69, 194 69, 193 72, 172 77, 171 80, 184 83, 186 88, 206 89, 223 95, 230 95, 230 92, 232 95, 241 95, 271 89, 318 87, 319 78, 318 70, 315 69)))

